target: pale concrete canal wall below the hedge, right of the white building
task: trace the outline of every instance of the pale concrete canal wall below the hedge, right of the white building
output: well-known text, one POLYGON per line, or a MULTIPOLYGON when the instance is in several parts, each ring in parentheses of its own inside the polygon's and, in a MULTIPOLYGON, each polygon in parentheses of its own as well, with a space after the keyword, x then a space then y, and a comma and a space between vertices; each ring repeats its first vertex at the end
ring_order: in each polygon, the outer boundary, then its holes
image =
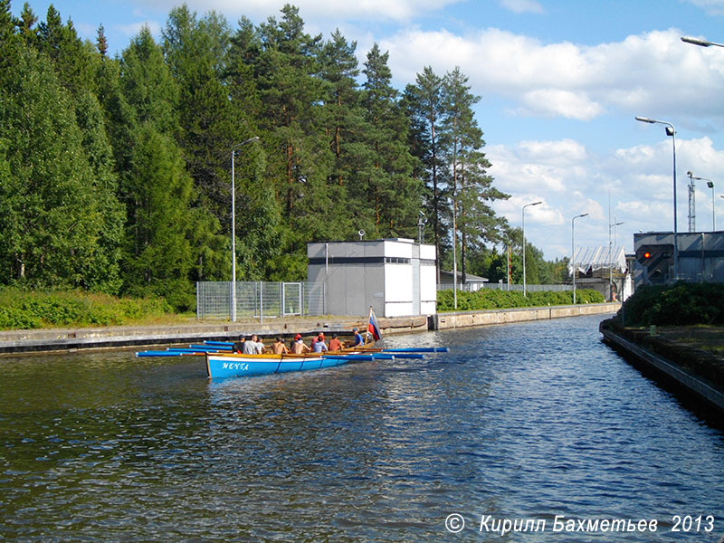
POLYGON ((542 308, 517 308, 513 310, 456 311, 438 313, 430 317, 431 329, 455 329, 489 324, 508 324, 525 320, 560 319, 582 315, 615 313, 620 303, 591 303, 570 306, 547 306, 542 308))

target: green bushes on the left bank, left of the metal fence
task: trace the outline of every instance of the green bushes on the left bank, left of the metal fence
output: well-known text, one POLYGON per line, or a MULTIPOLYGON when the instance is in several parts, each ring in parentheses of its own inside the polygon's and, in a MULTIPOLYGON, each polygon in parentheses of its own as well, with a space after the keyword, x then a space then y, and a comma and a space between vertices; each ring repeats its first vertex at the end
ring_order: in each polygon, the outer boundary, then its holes
POLYGON ((0 289, 0 329, 143 325, 185 318, 187 316, 172 313, 162 298, 0 289))

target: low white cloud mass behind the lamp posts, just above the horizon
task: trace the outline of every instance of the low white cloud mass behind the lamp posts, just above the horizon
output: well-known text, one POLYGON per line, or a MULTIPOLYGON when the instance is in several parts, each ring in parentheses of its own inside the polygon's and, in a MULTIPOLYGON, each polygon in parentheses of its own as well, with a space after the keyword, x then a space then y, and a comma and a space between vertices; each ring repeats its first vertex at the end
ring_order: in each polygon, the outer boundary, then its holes
MULTIPOLYGON (((526 237, 542 249, 546 258, 560 258, 570 252, 571 220, 576 221, 576 245, 606 245, 609 231, 617 243, 633 251, 633 233, 672 231, 673 185, 672 141, 619 148, 599 157, 579 141, 528 140, 514 146, 487 149, 491 175, 500 190, 511 195, 496 202, 498 214, 519 226, 522 206, 526 208, 526 237), (610 202, 610 209, 609 209, 610 202), (610 222, 609 222, 610 216, 610 222), (610 224, 623 222, 615 229, 610 224)), ((708 177, 724 188, 724 151, 710 138, 677 138, 677 205, 680 232, 688 229, 687 170, 708 177), (693 166, 692 166, 693 165, 693 166)), ((719 204, 717 196, 714 205, 719 204)), ((712 224, 711 190, 705 181, 696 184, 696 225, 708 230, 712 224)), ((724 216, 724 215, 722 215, 724 216)), ((722 223, 724 219, 718 221, 722 223)))

